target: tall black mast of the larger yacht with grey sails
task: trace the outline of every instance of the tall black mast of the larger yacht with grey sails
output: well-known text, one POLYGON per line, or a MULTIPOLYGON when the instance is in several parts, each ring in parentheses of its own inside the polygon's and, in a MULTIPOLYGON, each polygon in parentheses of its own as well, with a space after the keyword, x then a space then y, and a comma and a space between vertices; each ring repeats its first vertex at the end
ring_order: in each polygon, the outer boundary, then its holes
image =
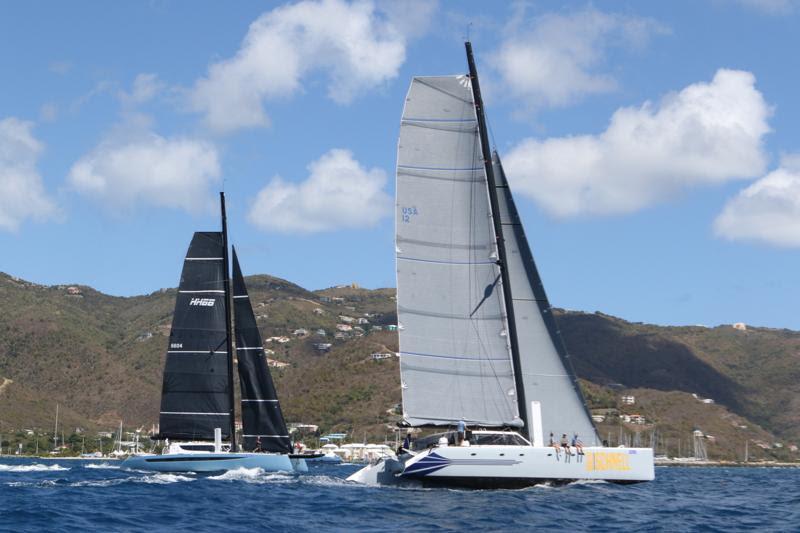
POLYGON ((483 166, 486 169, 486 180, 489 185, 489 202, 492 206, 492 222, 494 223, 494 234, 497 240, 497 264, 500 267, 500 280, 503 285, 503 299, 506 304, 506 315, 508 319, 508 337, 511 344, 511 361, 514 365, 514 382, 517 386, 517 409, 519 416, 524 423, 522 432, 530 440, 530 428, 528 427, 528 408, 525 403, 525 388, 522 383, 522 366, 519 362, 519 343, 517 341, 517 326, 514 321, 514 303, 511 300, 511 282, 508 279, 506 270, 506 248, 503 238, 503 226, 500 220, 500 206, 497 201, 497 186, 494 178, 494 168, 492 167, 492 153, 489 148, 489 136, 486 133, 486 116, 483 113, 483 98, 481 98, 481 86, 478 82, 478 69, 475 68, 475 58, 472 57, 472 43, 464 43, 467 49, 467 62, 469 63, 469 77, 472 81, 472 97, 475 100, 475 114, 478 117, 478 133, 481 139, 481 152, 483 166))

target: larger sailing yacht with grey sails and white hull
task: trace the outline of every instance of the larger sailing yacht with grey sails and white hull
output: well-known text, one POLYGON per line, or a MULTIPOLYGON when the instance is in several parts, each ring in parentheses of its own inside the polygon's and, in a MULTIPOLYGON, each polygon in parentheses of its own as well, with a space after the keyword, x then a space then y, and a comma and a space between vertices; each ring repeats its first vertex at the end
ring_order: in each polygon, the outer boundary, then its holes
POLYGON ((469 75, 411 82, 398 143, 395 244, 404 423, 466 431, 418 439, 397 460, 349 479, 479 488, 652 480, 652 449, 603 446, 592 424, 503 165, 490 150, 465 44, 469 75))

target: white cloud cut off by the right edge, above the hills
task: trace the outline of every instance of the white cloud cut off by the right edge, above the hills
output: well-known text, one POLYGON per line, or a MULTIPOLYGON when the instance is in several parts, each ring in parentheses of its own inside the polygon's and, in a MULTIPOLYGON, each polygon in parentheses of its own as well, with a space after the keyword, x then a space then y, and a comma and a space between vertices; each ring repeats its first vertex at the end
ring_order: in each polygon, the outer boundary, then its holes
POLYGON ((800 156, 784 157, 778 169, 729 200, 714 233, 732 241, 800 246, 800 156))

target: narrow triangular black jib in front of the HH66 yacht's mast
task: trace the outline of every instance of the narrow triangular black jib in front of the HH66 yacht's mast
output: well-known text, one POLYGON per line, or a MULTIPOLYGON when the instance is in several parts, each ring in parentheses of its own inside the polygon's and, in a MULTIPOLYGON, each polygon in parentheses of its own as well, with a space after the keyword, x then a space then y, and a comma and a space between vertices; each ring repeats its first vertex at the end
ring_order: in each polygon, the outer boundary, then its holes
POLYGON ((292 443, 267 366, 261 334, 253 316, 253 307, 250 304, 235 249, 233 250, 233 312, 239 385, 242 392, 244 439, 242 448, 247 451, 261 449, 289 453, 292 450, 292 443))

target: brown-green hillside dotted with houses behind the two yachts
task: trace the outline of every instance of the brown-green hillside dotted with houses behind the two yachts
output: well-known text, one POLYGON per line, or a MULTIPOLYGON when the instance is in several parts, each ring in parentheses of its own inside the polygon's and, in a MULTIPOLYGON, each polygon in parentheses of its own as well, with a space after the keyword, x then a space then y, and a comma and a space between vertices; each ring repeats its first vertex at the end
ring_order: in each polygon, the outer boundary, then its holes
MULTIPOLYGON (((396 323, 394 290, 308 291, 265 275, 247 284, 264 338, 289 338, 265 342, 269 358, 288 365, 272 369, 287 419, 382 439, 398 419, 398 360, 372 354, 398 348, 386 327, 396 323), (335 338, 337 324, 350 319, 353 330, 335 338)), ((0 433, 52 431, 56 403, 68 432, 108 430, 120 420, 149 429, 158 419, 174 299, 173 289, 121 298, 0 274, 0 433)), ((636 441, 674 455, 698 429, 713 437, 706 439, 712 457, 740 457, 745 441, 751 457, 798 455, 789 447, 800 442, 800 333, 557 317, 611 444, 636 441), (624 395, 635 403, 622 404, 624 395), (701 402, 708 398, 714 403, 701 402), (645 423, 626 422, 631 415, 645 423)))

